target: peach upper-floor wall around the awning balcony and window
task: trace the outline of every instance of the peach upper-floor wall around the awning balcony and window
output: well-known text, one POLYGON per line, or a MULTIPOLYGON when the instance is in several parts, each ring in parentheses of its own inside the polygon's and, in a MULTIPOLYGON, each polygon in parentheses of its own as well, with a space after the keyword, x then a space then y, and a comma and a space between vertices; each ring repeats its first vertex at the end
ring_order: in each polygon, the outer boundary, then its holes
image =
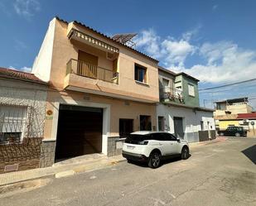
MULTIPOLYGON (((104 88, 118 90, 118 94, 123 93, 124 96, 134 96, 138 97, 141 95, 141 99, 145 98, 152 102, 157 102, 159 100, 158 91, 158 72, 157 72, 157 61, 149 60, 147 57, 137 54, 136 52, 129 50, 123 46, 118 46, 108 39, 95 35, 94 32, 88 29, 78 26, 75 24, 70 24, 74 28, 84 32, 90 36, 94 36, 100 41, 104 41, 109 45, 118 47, 118 71, 119 80, 118 85, 112 83, 105 83, 101 80, 97 81, 98 90, 101 90, 101 86, 104 88), (147 85, 138 84, 134 80, 134 63, 147 67, 147 85), (101 83, 102 82, 102 83, 101 83)), ((78 59, 78 50, 84 50, 88 53, 91 52, 95 55, 99 55, 99 66, 104 68, 111 67, 111 61, 104 58, 101 51, 96 52, 94 49, 89 49, 88 46, 81 46, 81 44, 75 44, 71 42, 67 37, 67 27, 65 22, 56 21, 55 38, 53 45, 53 55, 51 63, 51 84, 57 89, 64 89, 67 85, 75 84, 75 86, 83 88, 86 87, 83 81, 89 82, 88 78, 83 77, 84 80, 72 82, 71 79, 65 79, 66 76, 66 63, 70 59, 78 59), (97 53, 97 54, 96 54, 97 53)), ((94 82, 91 82, 91 86, 95 86, 94 82)), ((97 90, 97 89, 96 89, 97 90)), ((108 92, 106 90, 106 92, 108 92)), ((112 90, 115 93, 114 90, 112 90)), ((138 98, 138 101, 139 98, 138 98)))

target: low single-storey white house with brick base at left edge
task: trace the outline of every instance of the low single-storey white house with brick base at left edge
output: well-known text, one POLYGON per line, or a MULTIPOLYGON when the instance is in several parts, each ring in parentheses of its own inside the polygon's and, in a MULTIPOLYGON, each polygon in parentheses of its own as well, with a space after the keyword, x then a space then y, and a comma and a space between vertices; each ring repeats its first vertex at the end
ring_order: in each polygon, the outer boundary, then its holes
POLYGON ((44 162, 47 86, 34 74, 0 68, 0 174, 44 162))

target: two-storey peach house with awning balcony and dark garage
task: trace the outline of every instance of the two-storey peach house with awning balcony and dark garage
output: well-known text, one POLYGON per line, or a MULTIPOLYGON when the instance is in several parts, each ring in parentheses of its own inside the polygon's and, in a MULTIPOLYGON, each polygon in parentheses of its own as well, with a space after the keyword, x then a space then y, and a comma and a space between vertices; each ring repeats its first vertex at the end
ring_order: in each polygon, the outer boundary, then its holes
POLYGON ((50 82, 43 141, 56 144, 52 160, 113 156, 128 133, 156 130, 157 63, 80 22, 54 18, 32 68, 50 82))

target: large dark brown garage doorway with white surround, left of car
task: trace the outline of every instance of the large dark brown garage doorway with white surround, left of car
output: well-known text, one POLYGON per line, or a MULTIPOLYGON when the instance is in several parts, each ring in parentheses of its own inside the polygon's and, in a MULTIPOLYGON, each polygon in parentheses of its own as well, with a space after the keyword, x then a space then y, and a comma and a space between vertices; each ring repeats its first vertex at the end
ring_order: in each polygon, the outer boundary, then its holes
POLYGON ((60 105, 56 160, 102 151, 103 111, 60 105))

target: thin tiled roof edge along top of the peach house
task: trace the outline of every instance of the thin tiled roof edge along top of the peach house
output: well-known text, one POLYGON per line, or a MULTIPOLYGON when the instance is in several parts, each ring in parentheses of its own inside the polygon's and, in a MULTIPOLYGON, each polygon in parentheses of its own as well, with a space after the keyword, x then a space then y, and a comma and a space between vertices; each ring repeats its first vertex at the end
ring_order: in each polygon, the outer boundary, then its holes
MULTIPOLYGON (((63 20, 63 19, 60 19, 60 17, 56 17, 56 19, 59 20, 60 22, 65 22, 66 24, 69 24, 69 22, 66 22, 66 21, 63 20)), ((81 22, 77 22, 77 21, 73 21, 73 22, 74 22, 75 24, 77 24, 77 25, 80 25, 80 26, 85 27, 86 29, 89 29, 90 31, 93 31, 94 33, 96 33, 96 34, 98 34, 98 35, 100 35, 100 36, 104 36, 105 38, 109 39, 110 41, 113 41, 114 43, 116 43, 116 44, 118 44, 118 45, 120 45, 120 46, 125 46, 128 50, 133 50, 133 51, 135 51, 136 53, 138 53, 139 55, 143 55, 143 56, 147 57, 147 58, 150 59, 150 60, 156 61, 157 63, 159 62, 158 60, 153 59, 151 56, 146 55, 146 54, 142 53, 142 52, 139 51, 139 50, 135 50, 135 49, 133 49, 133 48, 130 47, 130 46, 127 46, 127 45, 125 45, 125 44, 123 44, 123 43, 121 43, 121 42, 119 42, 119 41, 114 40, 114 39, 113 39, 112 37, 110 37, 110 36, 106 36, 104 33, 101 33, 101 32, 99 32, 99 31, 94 30, 92 27, 86 26, 85 24, 83 24, 83 23, 81 23, 81 22)))

